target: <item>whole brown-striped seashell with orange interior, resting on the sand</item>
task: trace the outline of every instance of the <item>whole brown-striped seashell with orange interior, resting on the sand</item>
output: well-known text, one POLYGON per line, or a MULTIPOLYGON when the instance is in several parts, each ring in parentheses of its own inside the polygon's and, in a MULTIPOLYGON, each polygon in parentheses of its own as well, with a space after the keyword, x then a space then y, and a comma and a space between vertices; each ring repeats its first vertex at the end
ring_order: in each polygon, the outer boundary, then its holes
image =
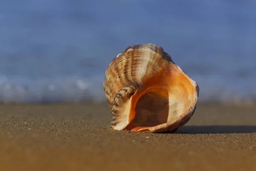
POLYGON ((195 112, 199 87, 160 46, 128 46, 109 64, 103 83, 111 128, 174 132, 195 112))

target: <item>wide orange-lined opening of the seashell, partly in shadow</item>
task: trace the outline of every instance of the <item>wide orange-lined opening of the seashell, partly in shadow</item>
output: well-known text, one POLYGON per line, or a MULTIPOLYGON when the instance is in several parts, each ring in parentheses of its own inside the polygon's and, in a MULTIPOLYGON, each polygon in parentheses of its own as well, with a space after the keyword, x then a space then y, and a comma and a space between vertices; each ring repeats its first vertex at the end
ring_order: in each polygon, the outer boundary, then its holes
MULTIPOLYGON (((178 66, 170 64, 171 70, 167 75, 160 73, 157 82, 151 81, 147 85, 149 91, 141 92, 140 98, 134 100, 131 106, 135 108, 135 116, 126 127, 131 131, 159 130, 164 127, 171 131, 175 127, 175 120, 184 120, 178 122, 185 124, 190 117, 186 117, 194 107, 197 96, 197 84, 191 80, 178 66), (161 77, 160 75, 163 75, 161 77), (164 126, 172 124, 172 126, 164 126)), ((163 71, 164 72, 164 71, 163 71)), ((155 80, 155 79, 153 79, 155 80)), ((130 114, 133 114, 130 112, 130 114)))

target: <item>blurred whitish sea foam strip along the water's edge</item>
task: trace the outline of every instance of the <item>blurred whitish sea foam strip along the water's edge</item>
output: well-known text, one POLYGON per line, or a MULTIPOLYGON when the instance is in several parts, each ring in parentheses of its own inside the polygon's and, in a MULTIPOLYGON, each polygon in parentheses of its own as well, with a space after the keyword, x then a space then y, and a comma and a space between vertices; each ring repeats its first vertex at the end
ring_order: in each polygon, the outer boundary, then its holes
MULTIPOLYGON (((106 102, 104 76, 90 78, 64 77, 52 80, 30 80, 24 77, 0 76, 2 103, 106 102)), ((252 87, 230 87, 218 79, 194 77, 200 87, 198 102, 251 103, 256 98, 252 87)))

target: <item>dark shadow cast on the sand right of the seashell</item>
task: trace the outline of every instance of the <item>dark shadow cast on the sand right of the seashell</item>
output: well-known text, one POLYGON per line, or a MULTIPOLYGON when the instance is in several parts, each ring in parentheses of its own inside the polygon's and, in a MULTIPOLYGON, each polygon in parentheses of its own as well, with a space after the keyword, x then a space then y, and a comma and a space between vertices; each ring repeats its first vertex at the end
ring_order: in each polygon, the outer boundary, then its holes
POLYGON ((256 125, 188 125, 173 134, 233 134, 256 133, 256 125))

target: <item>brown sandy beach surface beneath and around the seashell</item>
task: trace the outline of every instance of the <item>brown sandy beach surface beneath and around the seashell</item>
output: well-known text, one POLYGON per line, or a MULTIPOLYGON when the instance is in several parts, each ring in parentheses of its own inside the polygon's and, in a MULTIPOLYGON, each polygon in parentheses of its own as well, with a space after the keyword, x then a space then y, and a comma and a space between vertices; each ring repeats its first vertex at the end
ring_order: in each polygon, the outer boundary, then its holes
POLYGON ((256 107, 198 104, 172 134, 110 122, 106 104, 2 104, 0 171, 256 171, 256 107))

